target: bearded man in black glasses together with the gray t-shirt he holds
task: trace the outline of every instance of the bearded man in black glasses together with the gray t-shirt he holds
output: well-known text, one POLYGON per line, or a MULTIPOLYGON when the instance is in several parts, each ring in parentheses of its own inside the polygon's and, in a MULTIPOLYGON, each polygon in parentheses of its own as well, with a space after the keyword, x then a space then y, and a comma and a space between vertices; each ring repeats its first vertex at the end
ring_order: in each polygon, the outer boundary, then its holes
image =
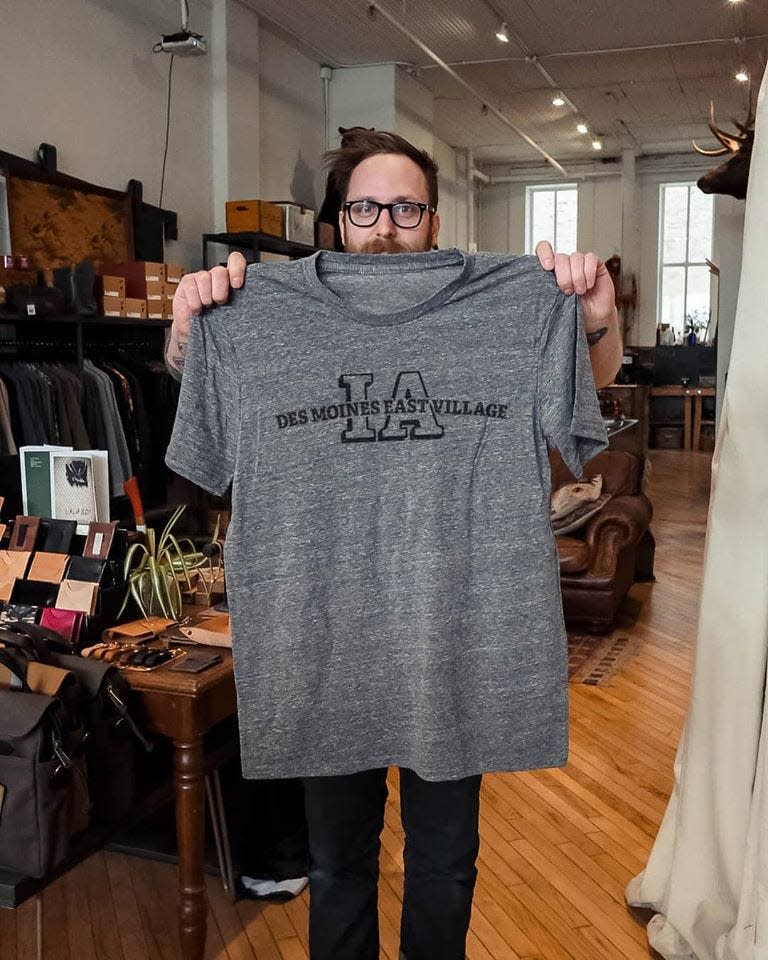
POLYGON ((378 960, 390 764, 406 835, 402 955, 462 960, 482 773, 565 759, 540 464, 545 441, 577 469, 605 445, 589 361, 598 383, 619 366, 613 285, 594 255, 540 245, 563 292, 581 295, 587 358, 572 302, 529 260, 430 252, 426 153, 371 132, 330 166, 345 250, 362 256, 264 265, 241 290, 231 258, 232 306, 198 321, 188 355, 190 312, 225 300, 228 278, 184 278, 168 463, 214 492, 234 478, 243 766, 303 778, 311 960, 378 960), (263 636, 244 629, 254 602, 263 636))

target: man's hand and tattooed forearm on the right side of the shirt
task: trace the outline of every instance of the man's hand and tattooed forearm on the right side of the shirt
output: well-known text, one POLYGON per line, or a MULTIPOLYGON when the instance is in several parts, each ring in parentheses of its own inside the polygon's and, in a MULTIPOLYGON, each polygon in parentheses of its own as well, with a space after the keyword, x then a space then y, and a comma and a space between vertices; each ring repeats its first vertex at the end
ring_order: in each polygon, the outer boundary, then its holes
POLYGON ((613 280, 605 264, 594 253, 555 253, 546 240, 536 244, 536 256, 545 270, 555 271, 563 293, 579 296, 595 383, 607 386, 621 366, 622 347, 613 280))

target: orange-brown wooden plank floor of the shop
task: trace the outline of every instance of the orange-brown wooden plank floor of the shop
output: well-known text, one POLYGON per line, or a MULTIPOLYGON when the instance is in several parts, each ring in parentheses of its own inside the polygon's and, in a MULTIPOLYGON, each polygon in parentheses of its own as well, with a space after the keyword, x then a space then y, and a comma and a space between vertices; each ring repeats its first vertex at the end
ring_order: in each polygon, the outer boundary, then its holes
MULTIPOLYGON (((637 960, 651 955, 624 905, 672 787, 686 710, 709 490, 707 454, 653 451, 653 585, 636 585, 638 644, 619 676, 571 684, 564 769, 489 775, 469 960, 637 960)), ((394 786, 394 784, 393 784, 394 786)), ((402 831, 396 790, 381 865, 382 956, 397 960, 402 831)), ((288 905, 232 905, 208 883, 206 960, 306 960, 307 895, 288 905)), ((175 960, 175 873, 99 854, 44 897, 45 960, 175 960)), ((35 957, 35 910, 0 910, 0 958, 35 957)), ((181 958, 184 960, 184 958, 181 958)), ((436 957, 435 960, 440 960, 436 957)))

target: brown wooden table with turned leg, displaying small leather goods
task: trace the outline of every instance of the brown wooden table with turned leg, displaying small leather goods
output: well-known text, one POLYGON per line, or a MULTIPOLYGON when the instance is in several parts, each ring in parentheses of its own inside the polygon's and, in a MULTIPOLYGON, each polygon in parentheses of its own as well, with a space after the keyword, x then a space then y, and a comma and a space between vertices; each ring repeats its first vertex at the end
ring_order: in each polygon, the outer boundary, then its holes
MULTIPOLYGON (((214 651, 212 647, 201 650, 214 651)), ((176 838, 179 852, 179 934, 184 960, 203 960, 207 900, 204 882, 205 764, 203 737, 237 711, 232 651, 215 648, 222 663, 199 674, 124 670, 141 694, 146 724, 174 745, 176 838)), ((158 905, 159 906, 159 905, 158 905)))

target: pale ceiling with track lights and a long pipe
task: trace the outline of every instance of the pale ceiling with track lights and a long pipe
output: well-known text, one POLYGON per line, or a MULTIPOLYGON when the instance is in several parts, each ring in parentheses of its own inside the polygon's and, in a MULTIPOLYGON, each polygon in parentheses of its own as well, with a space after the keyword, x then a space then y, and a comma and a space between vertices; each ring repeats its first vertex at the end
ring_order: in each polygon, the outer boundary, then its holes
MULTIPOLYGON (((315 59, 334 67, 398 62, 408 65, 435 98, 435 133, 477 160, 539 159, 493 112, 366 0, 245 0, 292 35, 315 59)), ((707 130, 710 100, 717 121, 744 119, 747 85, 733 75, 741 64, 755 93, 768 51, 766 0, 382 0, 386 10, 483 100, 500 110, 558 161, 593 159, 591 136, 575 129, 567 107, 534 63, 539 58, 603 139, 600 156, 622 147, 638 154, 685 152, 690 140, 717 146, 707 130), (504 19, 510 42, 494 34, 504 19), (513 36, 514 35, 514 36, 513 36), (734 38, 747 38, 734 42, 734 38), (669 46, 684 44, 682 46, 669 46), (638 46, 653 50, 629 50, 638 46), (615 53, 596 51, 620 50, 615 53)), ((364 122, 361 120, 360 122, 364 122)))

